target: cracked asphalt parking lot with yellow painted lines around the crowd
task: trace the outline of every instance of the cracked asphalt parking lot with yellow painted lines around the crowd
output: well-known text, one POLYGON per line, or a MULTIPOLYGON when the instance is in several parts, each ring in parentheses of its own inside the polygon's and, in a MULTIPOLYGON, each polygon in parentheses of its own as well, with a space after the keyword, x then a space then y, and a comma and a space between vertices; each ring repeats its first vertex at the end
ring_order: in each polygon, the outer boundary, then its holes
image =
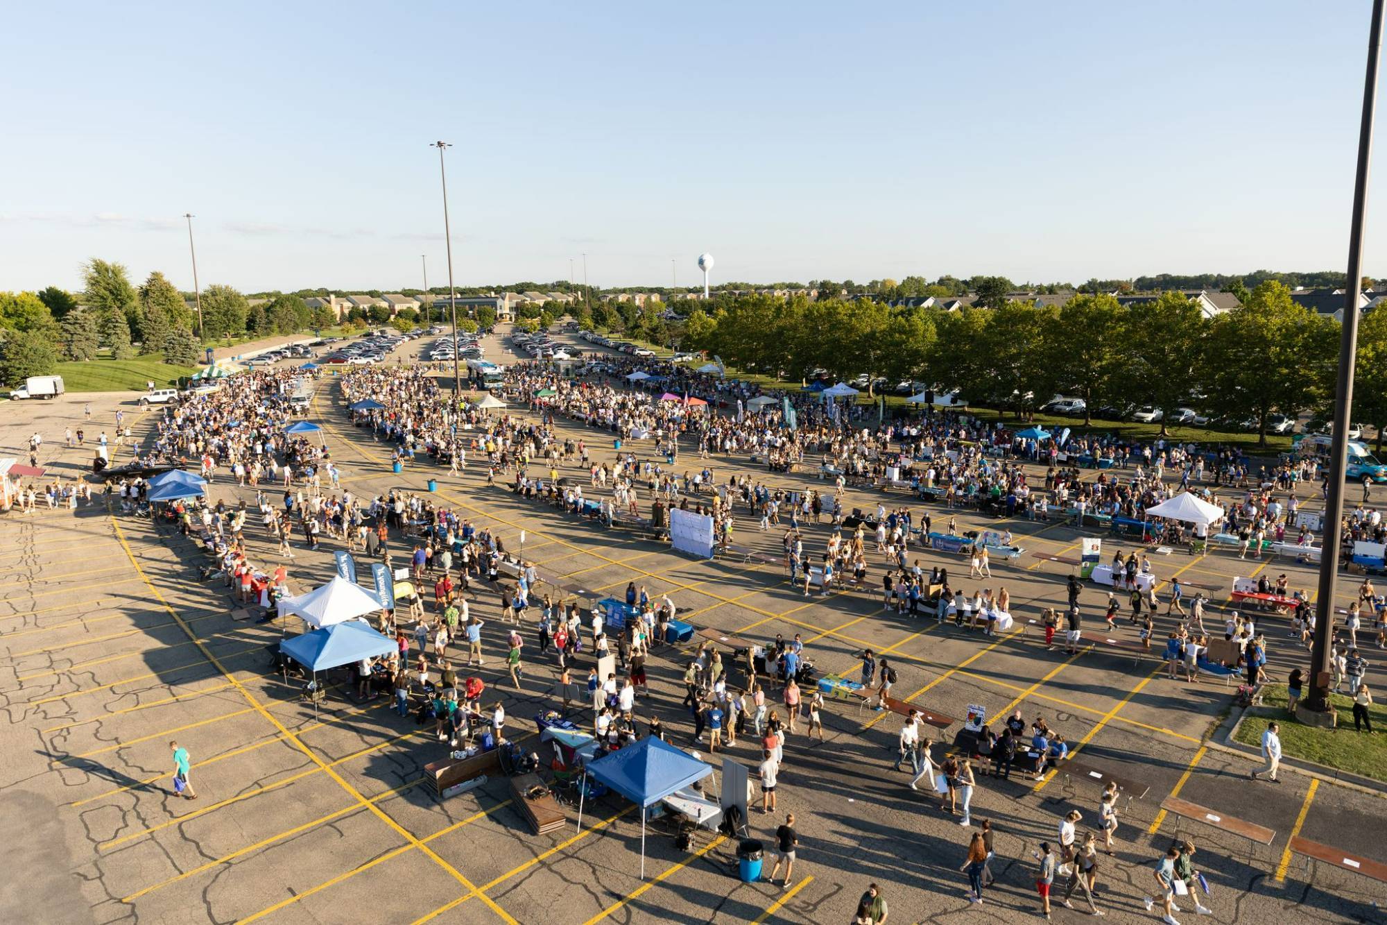
MULTIPOLYGON (((398 353, 413 356, 419 344, 398 353)), ((498 339, 487 347, 488 358, 510 360, 498 339)), ((12 403, 0 422, 0 456, 24 454, 39 429, 46 438, 42 462, 75 478, 90 458, 93 429, 112 428, 117 408, 126 411, 136 438, 147 439, 158 411, 141 414, 135 399, 69 394, 12 403), (62 446, 64 429, 79 425, 87 446, 62 446)), ((900 672, 897 692, 953 717, 970 704, 986 707, 989 717, 1011 710, 1026 719, 1043 717, 1071 746, 1082 746, 1076 762, 1146 789, 1122 807, 1115 854, 1100 858, 1099 904, 1111 921, 1151 917, 1142 899, 1155 858, 1176 835, 1198 844, 1198 865, 1212 885, 1204 901, 1218 921, 1381 921, 1375 906, 1383 899, 1380 883, 1323 864, 1307 867, 1286 853, 1289 836, 1298 832, 1387 861, 1377 838, 1387 822, 1380 797, 1293 772, 1283 772, 1277 785, 1251 782, 1250 760, 1205 740, 1230 704, 1232 690, 1221 679, 1168 681, 1155 661, 1133 664, 1105 647, 1097 632, 1075 656, 1046 649, 1039 624, 1031 621, 1043 607, 1064 604, 1071 567, 1033 553, 1076 557, 1083 533, 1072 525, 1007 524, 1026 554, 1015 562, 993 561, 986 586, 1010 590, 1017 631, 983 639, 975 631, 884 611, 871 590, 806 597, 785 583, 777 565, 694 561, 666 544, 602 532, 505 488, 485 486, 476 465, 458 478, 426 462, 393 474, 388 451, 350 425, 331 376, 319 385, 312 418, 325 426, 344 488, 358 494, 423 493, 426 481, 436 479, 436 503, 499 531, 512 549, 524 531, 524 556, 541 575, 567 575, 613 592, 635 582, 652 594, 667 593, 681 618, 700 628, 752 639, 800 633, 821 675, 856 674, 854 654, 864 647, 885 651, 900 672), (1270 828, 1275 838, 1269 846, 1252 844, 1165 812, 1161 801, 1172 793, 1270 828)), ((610 447, 599 431, 562 421, 558 426, 592 447, 610 447)), ((695 465, 695 454, 688 456, 695 465)), ((714 454, 698 464, 710 465, 720 479, 745 471, 768 485, 831 490, 817 479, 767 474, 745 460, 714 454)), ((211 497, 252 501, 254 492, 218 479, 211 497)), ((904 494, 865 490, 850 490, 846 506, 874 508, 878 501, 921 508, 904 494)), ((957 515, 963 529, 997 524, 975 511, 957 515)), ((827 526, 806 532, 813 549, 827 526)), ((739 542, 778 551, 778 535, 760 533, 755 524, 739 524, 739 542)), ((250 549, 257 561, 279 564, 265 536, 252 532, 250 549)), ((331 549, 325 543, 320 553, 309 553, 295 544, 288 562, 295 588, 312 588, 333 574, 331 549)), ((1104 538, 1105 558, 1114 549, 1129 546, 1104 538)), ((918 558, 925 568, 947 565, 951 575, 967 569, 960 569, 958 557, 932 550, 920 550, 918 558)), ((0 515, 0 704, 8 719, 0 732, 0 786, 7 828, 22 833, 4 849, 11 874, 10 885, 0 888, 6 919, 817 924, 850 921, 857 897, 877 882, 892 921, 964 914, 1021 921, 1037 908, 1035 846, 1054 840, 1071 808, 1083 814, 1080 831, 1097 821, 1099 788, 1083 775, 979 778, 972 815, 975 822, 990 819, 996 831, 996 885, 985 906, 970 907, 958 874, 968 833, 892 769, 899 718, 829 701, 824 742, 793 735, 786 744, 779 814, 753 811, 750 818, 753 835, 770 840, 784 812, 795 812, 800 851, 788 889, 741 883, 735 840, 703 835, 685 850, 659 826, 646 840, 642 881, 639 817, 630 804, 598 800, 585 811, 591 822, 581 832, 570 814, 566 829, 534 836, 510 803, 505 778, 437 797, 420 782, 420 771, 447 747, 433 740, 430 726, 395 717, 383 700, 358 701, 350 683, 333 678, 336 686, 315 717, 300 703, 295 685, 268 671, 266 647, 277 643, 280 628, 247 619, 219 582, 198 581, 200 562, 189 542, 119 514, 101 496, 76 511, 0 515), (196 801, 169 790, 171 739, 191 751, 196 801)), ((1309 568, 1294 561, 1240 561, 1215 551, 1153 556, 1153 564, 1162 582, 1179 576, 1203 585, 1215 604, 1222 604, 1234 575, 1284 571, 1293 588, 1315 586, 1309 568)), ((877 561, 870 586, 879 569, 877 561)), ((963 582, 967 592, 975 585, 963 582)), ((484 635, 498 665, 498 596, 484 583, 474 590, 472 607, 490 624, 484 635)), ((1092 588, 1082 596, 1089 612, 1103 600, 1092 588)), ((1161 615, 1158 636, 1171 619, 1161 615)), ((1273 632, 1280 621, 1266 617, 1265 625, 1272 671, 1284 676, 1304 657, 1273 632)), ((1118 632, 1136 638, 1125 621, 1118 632)), ((689 744, 680 676, 691 653, 656 653, 653 697, 638 708, 659 714, 680 744, 689 744)), ((533 715, 555 703, 553 662, 534 654, 527 662, 531 671, 519 690, 492 664, 481 672, 517 736, 533 733, 533 715)), ((580 661, 581 674, 587 667, 580 661)), ((1370 672, 1380 679, 1381 665, 1370 672)), ((526 743, 538 749, 534 738, 526 743)), ((712 757, 706 743, 691 747, 712 757)), ((759 758, 745 742, 725 757, 753 768, 759 758)), ((1075 906, 1071 911, 1057 903, 1056 918, 1085 912, 1082 901, 1075 906)))

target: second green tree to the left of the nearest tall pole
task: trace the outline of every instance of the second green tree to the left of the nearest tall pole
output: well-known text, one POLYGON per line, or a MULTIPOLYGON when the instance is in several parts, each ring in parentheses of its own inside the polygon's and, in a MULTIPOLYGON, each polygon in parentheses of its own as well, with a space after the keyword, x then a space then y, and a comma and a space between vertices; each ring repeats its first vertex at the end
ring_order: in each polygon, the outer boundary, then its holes
POLYGON ((1169 414, 1190 392, 1204 389, 1208 329, 1209 321, 1183 293, 1165 292, 1129 308, 1119 335, 1126 354, 1119 394, 1169 414))

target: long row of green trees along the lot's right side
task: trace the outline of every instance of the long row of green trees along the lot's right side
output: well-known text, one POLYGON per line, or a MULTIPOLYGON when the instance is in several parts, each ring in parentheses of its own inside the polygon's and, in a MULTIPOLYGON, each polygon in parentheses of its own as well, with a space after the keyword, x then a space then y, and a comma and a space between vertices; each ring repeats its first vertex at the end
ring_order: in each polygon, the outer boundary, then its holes
MULTIPOLYGON (((682 344, 777 379, 824 371, 961 390, 974 404, 1022 414, 1061 393, 1104 406, 1190 406, 1265 440, 1273 414, 1325 412, 1340 325, 1265 281, 1216 317, 1179 292, 1123 307, 1082 293, 1062 307, 1003 301, 960 311, 874 299, 748 294, 698 303, 682 344)), ((1362 319, 1354 415, 1387 426, 1387 312, 1362 319)), ((1087 419, 1085 421, 1087 422, 1087 419)))

